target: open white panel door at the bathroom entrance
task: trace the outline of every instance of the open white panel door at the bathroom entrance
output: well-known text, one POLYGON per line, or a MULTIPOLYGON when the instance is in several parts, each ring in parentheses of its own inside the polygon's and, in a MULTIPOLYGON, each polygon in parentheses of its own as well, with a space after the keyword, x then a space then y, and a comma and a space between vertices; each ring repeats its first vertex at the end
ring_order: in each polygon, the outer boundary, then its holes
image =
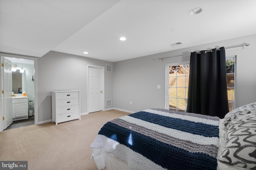
POLYGON ((12 124, 12 61, 3 57, 3 129, 12 124))

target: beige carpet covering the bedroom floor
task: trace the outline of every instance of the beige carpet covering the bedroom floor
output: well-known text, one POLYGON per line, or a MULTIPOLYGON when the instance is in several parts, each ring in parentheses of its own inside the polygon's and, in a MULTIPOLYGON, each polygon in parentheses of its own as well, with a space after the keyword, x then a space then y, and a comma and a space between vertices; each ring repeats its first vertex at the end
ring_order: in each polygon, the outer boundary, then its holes
POLYGON ((90 145, 100 128, 128 115, 109 110, 81 116, 81 120, 44 123, 0 133, 0 160, 28 161, 28 170, 97 170, 90 145))

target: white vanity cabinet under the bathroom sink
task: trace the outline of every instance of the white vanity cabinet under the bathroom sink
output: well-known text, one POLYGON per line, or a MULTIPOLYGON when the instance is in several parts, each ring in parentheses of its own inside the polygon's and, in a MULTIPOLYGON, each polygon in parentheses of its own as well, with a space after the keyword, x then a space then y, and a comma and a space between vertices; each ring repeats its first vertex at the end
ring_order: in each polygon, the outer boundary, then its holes
POLYGON ((12 98, 12 119, 28 119, 28 97, 12 98))

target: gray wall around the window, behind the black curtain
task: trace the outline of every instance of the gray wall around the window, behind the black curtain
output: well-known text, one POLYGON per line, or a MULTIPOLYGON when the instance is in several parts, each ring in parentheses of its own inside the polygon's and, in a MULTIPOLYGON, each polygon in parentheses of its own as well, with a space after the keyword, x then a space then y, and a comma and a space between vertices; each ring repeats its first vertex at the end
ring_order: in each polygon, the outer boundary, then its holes
MULTIPOLYGON (((190 56, 173 57, 164 61, 158 58, 190 54, 219 47, 229 47, 242 43, 250 46, 226 49, 226 57, 237 56, 236 107, 256 102, 256 34, 198 45, 119 61, 114 63, 114 107, 127 111, 141 111, 154 107, 165 107, 166 64, 189 61, 190 56), (157 85, 161 88, 157 89, 157 85), (130 102, 132 104, 130 105, 130 102)), ((171 48, 171 47, 170 47, 171 48)))

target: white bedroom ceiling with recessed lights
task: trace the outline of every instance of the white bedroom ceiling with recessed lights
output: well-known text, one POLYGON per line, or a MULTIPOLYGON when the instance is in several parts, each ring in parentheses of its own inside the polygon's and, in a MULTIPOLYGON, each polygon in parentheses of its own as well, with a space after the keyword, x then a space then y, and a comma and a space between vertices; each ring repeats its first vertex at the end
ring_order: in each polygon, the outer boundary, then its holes
POLYGON ((255 0, 0 0, 0 51, 122 61, 256 34, 255 8, 255 0), (196 7, 202 13, 190 15, 196 7))

